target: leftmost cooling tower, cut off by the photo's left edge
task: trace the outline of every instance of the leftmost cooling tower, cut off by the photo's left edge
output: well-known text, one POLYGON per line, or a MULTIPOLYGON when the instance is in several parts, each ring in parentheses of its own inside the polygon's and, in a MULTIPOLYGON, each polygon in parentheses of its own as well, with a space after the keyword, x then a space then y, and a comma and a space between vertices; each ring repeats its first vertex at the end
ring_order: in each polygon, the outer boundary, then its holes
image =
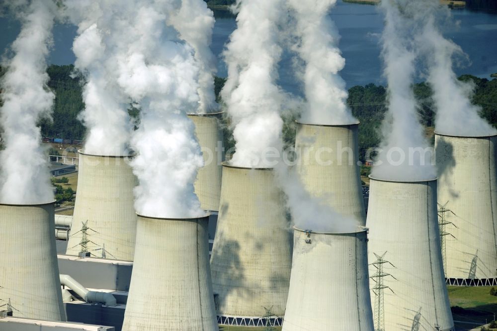
POLYGON ((0 310, 66 321, 55 249, 54 203, 0 205, 0 310))

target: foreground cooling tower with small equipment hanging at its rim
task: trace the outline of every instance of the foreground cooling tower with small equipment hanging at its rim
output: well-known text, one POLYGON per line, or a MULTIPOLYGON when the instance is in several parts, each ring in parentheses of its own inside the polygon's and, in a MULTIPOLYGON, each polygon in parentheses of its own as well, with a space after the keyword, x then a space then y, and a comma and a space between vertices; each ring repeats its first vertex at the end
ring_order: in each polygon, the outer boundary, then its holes
POLYGON ((366 229, 295 229, 283 331, 374 331, 366 229))

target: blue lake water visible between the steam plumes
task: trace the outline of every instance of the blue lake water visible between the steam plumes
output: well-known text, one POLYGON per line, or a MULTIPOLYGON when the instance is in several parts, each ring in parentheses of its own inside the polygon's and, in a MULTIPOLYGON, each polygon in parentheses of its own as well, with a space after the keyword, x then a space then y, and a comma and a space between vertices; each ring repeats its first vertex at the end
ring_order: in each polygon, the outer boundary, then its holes
MULTIPOLYGON (((458 75, 472 74, 490 79, 497 72, 497 15, 469 9, 452 10, 454 26, 447 27, 445 35, 461 46, 468 59, 461 59, 455 68, 458 75)), ((235 18, 217 15, 212 50, 218 56, 218 76, 226 77, 222 51, 231 32, 236 28, 235 18)), ((341 76, 347 87, 368 83, 384 84, 380 58, 379 36, 383 18, 373 5, 344 3, 341 0, 331 12, 341 35, 340 49, 346 60, 341 76)), ((0 50, 6 54, 8 45, 19 32, 19 24, 0 17, 0 50)), ((49 61, 54 64, 74 63, 71 50, 76 27, 57 24, 54 28, 54 46, 49 61)), ((285 54, 280 63, 279 84, 287 91, 298 93, 300 85, 291 70, 291 54, 285 54)))

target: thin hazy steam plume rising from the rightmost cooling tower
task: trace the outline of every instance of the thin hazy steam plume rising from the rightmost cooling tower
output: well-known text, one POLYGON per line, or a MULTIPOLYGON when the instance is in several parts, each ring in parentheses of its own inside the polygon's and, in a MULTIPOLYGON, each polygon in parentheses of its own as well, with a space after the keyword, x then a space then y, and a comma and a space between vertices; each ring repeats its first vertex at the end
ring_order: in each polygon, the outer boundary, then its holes
POLYGON ((436 105, 436 132, 458 136, 497 134, 497 130, 480 117, 481 107, 471 103, 473 85, 459 81, 453 71, 452 59, 463 51, 452 40, 443 37, 435 16, 437 13, 450 16, 449 9, 431 0, 417 2, 419 5, 413 14, 424 26, 417 42, 428 62, 428 83, 436 105))

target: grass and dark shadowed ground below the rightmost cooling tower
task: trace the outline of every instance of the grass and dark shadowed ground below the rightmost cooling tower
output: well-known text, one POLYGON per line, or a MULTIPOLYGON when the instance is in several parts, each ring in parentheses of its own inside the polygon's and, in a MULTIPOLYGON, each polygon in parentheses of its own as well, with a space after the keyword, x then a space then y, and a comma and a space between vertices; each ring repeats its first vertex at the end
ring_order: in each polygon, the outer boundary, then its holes
POLYGON ((486 320, 493 321, 494 313, 497 313, 497 297, 490 294, 491 288, 447 286, 454 321, 480 325, 486 320))

